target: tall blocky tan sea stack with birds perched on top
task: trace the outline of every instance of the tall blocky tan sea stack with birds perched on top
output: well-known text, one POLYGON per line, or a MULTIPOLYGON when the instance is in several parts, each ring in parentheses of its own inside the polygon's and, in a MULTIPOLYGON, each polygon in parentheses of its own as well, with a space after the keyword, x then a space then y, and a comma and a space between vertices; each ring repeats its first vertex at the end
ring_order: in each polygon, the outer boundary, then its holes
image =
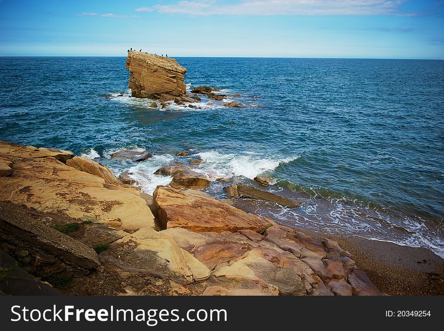
POLYGON ((130 71, 128 87, 136 98, 173 100, 186 95, 187 70, 175 59, 130 50, 126 68, 130 71))

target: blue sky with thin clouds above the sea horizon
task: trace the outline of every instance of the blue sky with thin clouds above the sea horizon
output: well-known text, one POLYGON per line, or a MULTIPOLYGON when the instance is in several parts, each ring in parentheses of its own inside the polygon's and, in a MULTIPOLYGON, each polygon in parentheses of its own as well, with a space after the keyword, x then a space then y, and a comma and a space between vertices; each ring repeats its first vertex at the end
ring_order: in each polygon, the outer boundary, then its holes
POLYGON ((444 59, 444 1, 0 0, 0 56, 444 59))

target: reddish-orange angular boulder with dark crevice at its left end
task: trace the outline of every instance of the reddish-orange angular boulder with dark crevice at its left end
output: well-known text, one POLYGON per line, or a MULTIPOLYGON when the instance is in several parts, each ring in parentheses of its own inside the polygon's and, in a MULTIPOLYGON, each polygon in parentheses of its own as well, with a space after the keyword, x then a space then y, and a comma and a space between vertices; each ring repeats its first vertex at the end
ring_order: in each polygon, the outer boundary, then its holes
POLYGON ((195 232, 249 229, 263 233, 273 225, 270 219, 247 213, 199 191, 157 186, 153 198, 161 229, 180 227, 195 232))

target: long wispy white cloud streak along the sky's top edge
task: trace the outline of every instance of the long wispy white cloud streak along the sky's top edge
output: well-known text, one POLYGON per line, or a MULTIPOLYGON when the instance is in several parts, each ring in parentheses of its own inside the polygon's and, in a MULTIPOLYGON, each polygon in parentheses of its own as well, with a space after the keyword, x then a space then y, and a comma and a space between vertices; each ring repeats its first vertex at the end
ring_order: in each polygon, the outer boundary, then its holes
POLYGON ((240 0, 224 4, 218 0, 182 0, 172 5, 136 9, 161 14, 188 15, 409 15, 401 14, 402 0, 240 0))

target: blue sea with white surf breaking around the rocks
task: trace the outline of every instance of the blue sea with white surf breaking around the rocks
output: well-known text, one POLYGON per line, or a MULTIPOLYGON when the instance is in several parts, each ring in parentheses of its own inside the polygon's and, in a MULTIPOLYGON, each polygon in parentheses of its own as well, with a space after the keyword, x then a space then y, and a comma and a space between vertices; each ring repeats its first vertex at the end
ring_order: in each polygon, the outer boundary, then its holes
POLYGON ((125 58, 0 58, 0 139, 74 151, 130 169, 152 193, 153 172, 189 150, 225 184, 273 178, 300 208, 238 200, 285 225, 426 247, 444 257, 444 61, 177 58, 188 87, 209 85, 246 108, 202 98, 200 109, 130 97, 125 58), (124 94, 124 96, 118 96, 124 94), (106 96, 110 96, 106 99, 106 96), (207 103, 212 104, 208 105, 207 103), (150 149, 140 163, 121 148, 150 149))

